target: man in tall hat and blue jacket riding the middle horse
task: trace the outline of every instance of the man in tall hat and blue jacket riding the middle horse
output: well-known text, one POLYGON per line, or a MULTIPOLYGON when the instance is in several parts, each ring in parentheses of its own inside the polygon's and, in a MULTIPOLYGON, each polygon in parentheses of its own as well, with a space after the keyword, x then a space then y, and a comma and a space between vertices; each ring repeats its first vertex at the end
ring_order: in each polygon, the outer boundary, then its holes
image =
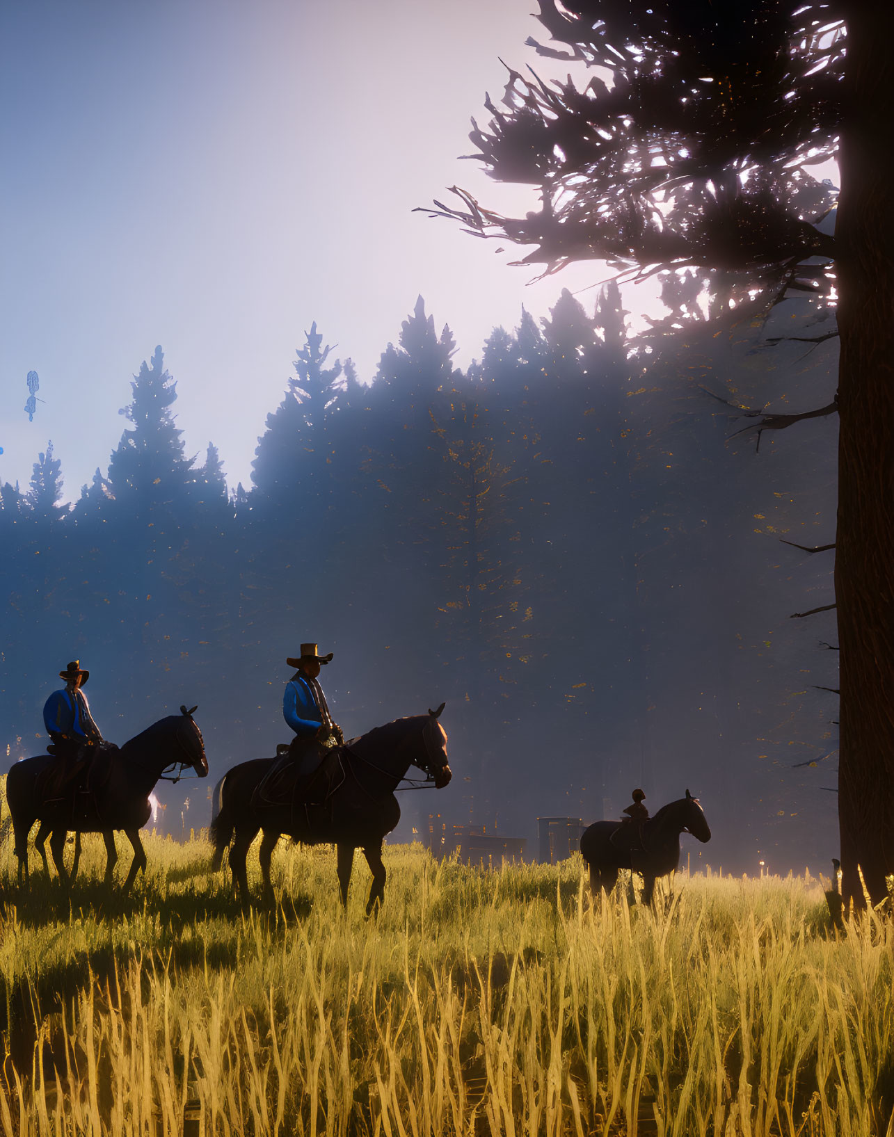
POLYGON ((285 684, 282 698, 283 717, 295 731, 295 738, 258 783, 253 806, 281 804, 282 795, 278 794, 278 786, 292 779, 291 800, 300 802, 326 750, 345 741, 341 728, 332 721, 326 697, 317 681, 321 665, 331 658, 331 652, 318 655, 316 644, 301 644, 300 657, 285 661, 289 667, 298 669, 285 684))

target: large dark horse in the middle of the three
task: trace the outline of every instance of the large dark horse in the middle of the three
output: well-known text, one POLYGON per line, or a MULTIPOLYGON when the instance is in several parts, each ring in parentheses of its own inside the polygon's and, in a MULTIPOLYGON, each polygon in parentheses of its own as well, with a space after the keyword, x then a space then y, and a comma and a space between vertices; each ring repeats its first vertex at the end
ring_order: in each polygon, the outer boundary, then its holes
POLYGON ((411 765, 419 766, 438 789, 450 780, 447 735, 438 722, 442 709, 444 703, 427 715, 396 719, 331 750, 320 771, 321 781, 326 783, 323 792, 314 792, 316 783, 312 783, 308 792, 312 800, 324 797, 322 804, 292 807, 284 802, 279 807, 253 810, 255 787, 274 760, 255 758, 233 766, 221 783, 220 812, 212 821, 213 870, 221 868, 223 852, 235 832, 230 868, 245 905, 248 903, 246 854, 258 830, 264 830, 260 870, 267 896, 271 894, 270 861, 281 833, 307 845, 334 844, 341 903, 347 905, 354 852, 362 848, 373 874, 366 905, 369 915, 384 898, 382 840, 400 820, 400 806, 394 792, 398 783, 411 765))

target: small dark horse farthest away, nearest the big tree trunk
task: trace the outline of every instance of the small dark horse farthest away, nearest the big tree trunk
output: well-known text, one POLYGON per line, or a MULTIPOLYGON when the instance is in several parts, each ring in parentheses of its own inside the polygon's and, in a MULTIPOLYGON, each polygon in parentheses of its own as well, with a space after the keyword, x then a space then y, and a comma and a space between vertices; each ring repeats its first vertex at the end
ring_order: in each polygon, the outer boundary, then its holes
MULTIPOLYGON (((597 821, 583 831, 580 852, 590 870, 590 888, 594 896, 604 888, 611 893, 618 882, 620 869, 632 869, 643 873, 643 903, 652 903, 652 890, 656 877, 667 877, 680 863, 680 833, 692 833, 703 844, 711 840, 711 830, 705 821, 698 798, 686 790, 686 797, 663 805, 654 818, 643 823, 643 847, 630 848, 631 841, 612 839, 628 838, 630 822, 597 821), (623 832, 619 832, 621 827, 623 832)), ((632 828, 632 825, 631 825, 632 828)), ((629 835, 632 837, 632 835, 629 835)))

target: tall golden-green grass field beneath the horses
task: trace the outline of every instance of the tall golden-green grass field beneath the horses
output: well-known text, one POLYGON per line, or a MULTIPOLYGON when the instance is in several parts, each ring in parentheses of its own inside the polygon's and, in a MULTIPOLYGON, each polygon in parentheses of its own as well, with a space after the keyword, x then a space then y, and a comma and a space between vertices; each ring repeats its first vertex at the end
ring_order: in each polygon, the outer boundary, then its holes
POLYGON ((678 874, 652 912, 579 857, 395 846, 370 921, 359 854, 343 914, 334 853, 282 841, 243 916, 204 833, 147 837, 127 901, 99 837, 69 894, 35 858, 24 895, 11 844, 5 1135, 894 1134, 894 929, 834 932, 816 881, 678 874))

